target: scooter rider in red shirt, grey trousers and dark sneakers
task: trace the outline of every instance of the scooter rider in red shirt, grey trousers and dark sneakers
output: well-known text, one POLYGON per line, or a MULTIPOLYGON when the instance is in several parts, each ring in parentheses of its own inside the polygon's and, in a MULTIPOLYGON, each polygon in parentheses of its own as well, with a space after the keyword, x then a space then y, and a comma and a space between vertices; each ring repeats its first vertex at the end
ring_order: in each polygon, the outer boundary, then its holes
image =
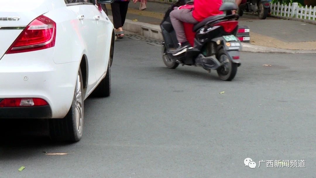
POLYGON ((170 20, 179 42, 179 47, 173 51, 173 56, 193 48, 185 37, 182 22, 196 24, 209 16, 223 14, 219 11, 221 5, 222 0, 194 0, 194 9, 175 9, 170 12, 170 20))

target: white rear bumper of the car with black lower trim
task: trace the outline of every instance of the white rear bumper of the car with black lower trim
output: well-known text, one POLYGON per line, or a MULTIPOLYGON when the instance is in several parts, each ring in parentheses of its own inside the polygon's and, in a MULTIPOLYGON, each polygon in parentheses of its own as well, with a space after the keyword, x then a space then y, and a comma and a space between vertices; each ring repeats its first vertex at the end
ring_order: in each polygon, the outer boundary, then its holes
POLYGON ((80 61, 55 64, 53 48, 4 55, 0 98, 41 98, 44 107, 0 107, 0 118, 64 118, 74 97, 80 61))

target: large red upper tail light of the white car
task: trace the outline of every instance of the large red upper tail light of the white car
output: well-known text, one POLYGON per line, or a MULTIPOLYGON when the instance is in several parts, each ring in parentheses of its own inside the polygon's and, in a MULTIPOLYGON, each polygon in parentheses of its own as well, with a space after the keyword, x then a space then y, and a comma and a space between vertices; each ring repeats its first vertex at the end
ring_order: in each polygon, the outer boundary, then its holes
POLYGON ((6 54, 28 52, 55 46, 56 23, 41 15, 22 31, 6 54))

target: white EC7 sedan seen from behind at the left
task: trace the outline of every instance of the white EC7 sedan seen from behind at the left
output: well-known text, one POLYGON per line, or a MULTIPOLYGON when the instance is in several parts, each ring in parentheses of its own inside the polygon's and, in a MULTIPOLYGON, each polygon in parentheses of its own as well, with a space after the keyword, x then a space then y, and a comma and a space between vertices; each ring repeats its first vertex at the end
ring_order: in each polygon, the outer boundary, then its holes
POLYGON ((94 0, 0 4, 0 118, 47 118, 52 139, 80 140, 83 101, 111 93, 112 22, 94 0))

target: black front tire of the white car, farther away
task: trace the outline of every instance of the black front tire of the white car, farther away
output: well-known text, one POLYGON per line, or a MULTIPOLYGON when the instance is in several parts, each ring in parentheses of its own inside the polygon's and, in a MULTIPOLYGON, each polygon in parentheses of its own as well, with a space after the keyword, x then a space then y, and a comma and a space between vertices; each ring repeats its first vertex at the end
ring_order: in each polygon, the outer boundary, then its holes
POLYGON ((108 64, 106 76, 101 80, 93 94, 96 97, 108 97, 111 95, 111 66, 108 64))

